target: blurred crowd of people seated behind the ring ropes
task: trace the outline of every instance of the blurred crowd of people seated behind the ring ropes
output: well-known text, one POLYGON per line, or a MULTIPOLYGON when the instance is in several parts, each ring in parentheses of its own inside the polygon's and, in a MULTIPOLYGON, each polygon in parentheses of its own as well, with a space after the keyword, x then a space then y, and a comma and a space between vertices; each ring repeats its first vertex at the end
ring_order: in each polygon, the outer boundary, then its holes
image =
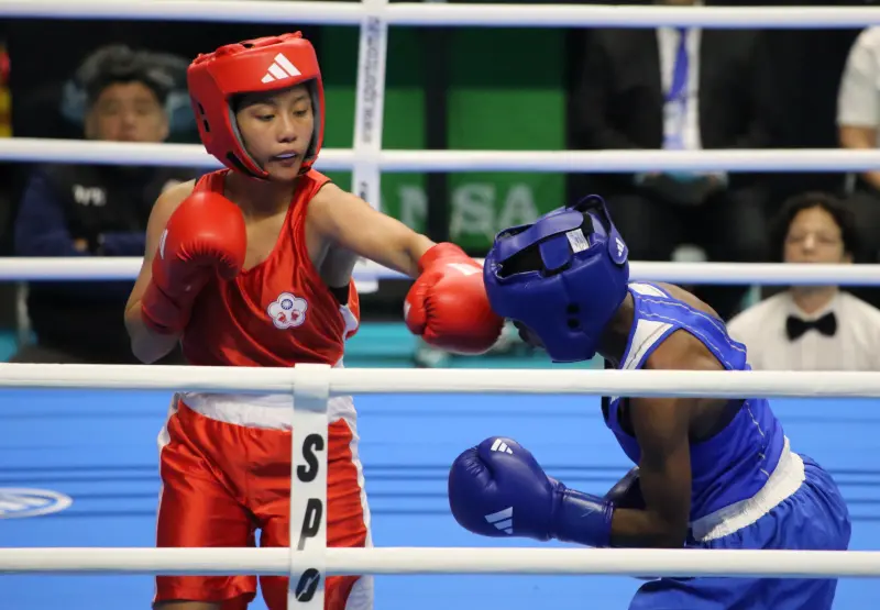
MULTIPOLYGON (((569 147, 876 148, 880 27, 827 34, 836 36, 836 46, 826 46, 824 53, 813 48, 813 55, 806 53, 806 38, 795 44, 787 37, 791 35, 673 27, 573 32, 569 147), (837 63, 834 48, 843 48, 837 63), (824 99, 833 100, 835 118, 811 119, 810 109, 823 99, 813 93, 831 89, 834 95, 824 99), (820 135, 799 141, 802 132, 820 135), (833 133, 833 144, 816 145, 825 132, 833 133)), ((50 123, 69 130, 53 135, 47 127, 36 135, 191 142, 195 125, 185 81, 189 59, 145 45, 92 46, 76 58, 61 87, 50 93, 30 88, 37 106, 57 114, 59 122, 50 123)), ((10 75, 16 65, 14 52, 0 54, 2 136, 18 135, 9 114, 10 75)), ((524 86, 527 81, 524 75, 524 86)), ((16 95, 15 87, 12 92, 16 95)), ((72 164, 1 167, 7 188, 0 195, 0 247, 7 256, 142 256, 153 201, 200 171, 72 164)), ((606 198, 634 260, 864 264, 877 263, 880 255, 880 168, 823 176, 583 173, 570 177, 569 191, 571 198, 587 192, 606 198)), ((125 281, 16 287, 18 324, 28 324, 30 332, 22 334, 12 359, 133 363, 122 324, 130 288, 125 281)), ((872 350, 880 333, 878 289, 689 288, 730 321, 732 334, 747 344, 756 368, 880 368, 880 355, 872 350)), ((369 320, 369 307, 364 317, 369 320)), ((497 351, 518 348, 512 334, 497 351)), ((436 366, 444 355, 420 348, 414 357, 419 365, 436 366)), ((179 362, 179 355, 168 362, 179 362)))

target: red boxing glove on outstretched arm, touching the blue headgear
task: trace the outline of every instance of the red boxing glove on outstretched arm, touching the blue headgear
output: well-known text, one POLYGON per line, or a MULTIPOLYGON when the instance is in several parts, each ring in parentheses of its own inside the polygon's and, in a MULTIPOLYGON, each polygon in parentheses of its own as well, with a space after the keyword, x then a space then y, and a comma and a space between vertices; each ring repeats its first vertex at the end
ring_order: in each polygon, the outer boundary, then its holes
POLYGON ((476 260, 454 244, 437 244, 419 259, 419 271, 404 306, 414 334, 455 354, 483 354, 495 345, 504 319, 490 307, 476 260))

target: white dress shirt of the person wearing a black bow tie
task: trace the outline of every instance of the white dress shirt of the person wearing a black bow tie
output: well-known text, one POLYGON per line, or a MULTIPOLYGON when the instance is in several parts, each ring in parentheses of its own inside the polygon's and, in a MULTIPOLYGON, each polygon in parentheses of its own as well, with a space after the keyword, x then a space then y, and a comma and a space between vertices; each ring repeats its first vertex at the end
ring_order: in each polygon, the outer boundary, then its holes
POLYGON ((880 370, 880 310, 848 292, 810 315, 780 292, 730 320, 727 331, 746 345, 755 370, 880 370), (811 329, 789 340, 789 315, 813 321, 828 312, 837 319, 833 336, 811 329))

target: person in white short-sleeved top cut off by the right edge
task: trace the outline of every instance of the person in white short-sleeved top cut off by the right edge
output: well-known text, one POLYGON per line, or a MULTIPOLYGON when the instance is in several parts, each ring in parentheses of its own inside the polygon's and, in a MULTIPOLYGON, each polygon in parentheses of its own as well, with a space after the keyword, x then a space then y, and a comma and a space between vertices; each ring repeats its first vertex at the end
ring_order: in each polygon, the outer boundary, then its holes
MULTIPOLYGON (((876 149, 880 142, 880 27, 868 27, 849 51, 837 96, 837 131, 840 146, 876 149)), ((857 263, 880 262, 880 168, 851 177, 848 204, 856 214, 862 252, 857 263)), ((855 291, 880 306, 880 289, 855 291)))

